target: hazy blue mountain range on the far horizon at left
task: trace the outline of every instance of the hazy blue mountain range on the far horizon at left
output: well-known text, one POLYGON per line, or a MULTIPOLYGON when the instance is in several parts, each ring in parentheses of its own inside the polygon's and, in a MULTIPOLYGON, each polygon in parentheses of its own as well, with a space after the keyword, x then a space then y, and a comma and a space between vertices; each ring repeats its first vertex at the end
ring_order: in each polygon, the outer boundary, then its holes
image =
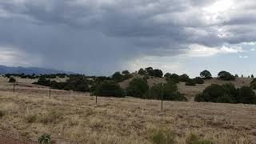
POLYGON ((10 67, 0 65, 0 74, 75 74, 63 70, 46 69, 39 67, 10 67))

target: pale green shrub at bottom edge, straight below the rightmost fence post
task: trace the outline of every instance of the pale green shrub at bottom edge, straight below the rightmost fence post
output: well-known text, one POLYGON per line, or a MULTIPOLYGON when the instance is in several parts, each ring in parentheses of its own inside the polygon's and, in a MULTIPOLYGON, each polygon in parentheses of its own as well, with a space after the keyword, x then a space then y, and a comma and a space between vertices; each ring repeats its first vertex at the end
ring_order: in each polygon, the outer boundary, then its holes
POLYGON ((155 130, 151 139, 154 144, 174 144, 176 143, 175 135, 170 130, 155 130))

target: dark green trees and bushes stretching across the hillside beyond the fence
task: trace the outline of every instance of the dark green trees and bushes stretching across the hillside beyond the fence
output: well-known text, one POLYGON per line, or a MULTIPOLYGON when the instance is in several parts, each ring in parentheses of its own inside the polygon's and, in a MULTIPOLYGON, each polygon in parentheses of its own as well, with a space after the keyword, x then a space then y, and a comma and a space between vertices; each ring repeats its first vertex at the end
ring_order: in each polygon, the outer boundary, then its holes
MULTIPOLYGON (((170 74, 166 73, 163 75, 162 70, 148 67, 146 69, 140 69, 137 74, 142 75, 142 78, 133 78, 128 70, 122 72, 115 72, 110 77, 97 77, 97 76, 86 76, 83 74, 42 74, 39 75, 38 82, 34 84, 42 86, 50 86, 52 89, 58 90, 74 90, 81 92, 90 92, 93 95, 105 96, 105 97, 118 97, 122 98, 126 95, 135 98, 146 98, 146 99, 163 99, 170 101, 186 101, 186 97, 178 92, 177 83, 185 82, 186 86, 196 86, 197 84, 203 84, 205 80, 211 79, 212 74, 209 70, 203 70, 199 77, 190 78, 187 74, 170 74), (52 78, 66 78, 66 82, 56 82, 51 80, 52 78), (155 84, 149 86, 147 79, 149 78, 162 78, 166 79, 166 83, 155 84), (123 90, 119 86, 118 82, 125 81, 133 78, 129 82, 129 86, 123 90)), ((26 76, 26 74, 6 74, 7 78, 10 78, 10 82, 16 81, 12 76, 19 76, 21 78, 30 78, 30 76, 36 77, 34 74, 26 76)), ((218 78, 223 81, 234 81, 238 75, 230 74, 227 71, 220 71, 218 78)), ((254 78, 254 76, 251 76, 254 78)), ((228 103, 254 103, 254 91, 256 89, 256 79, 250 83, 250 86, 243 86, 242 88, 234 88, 232 84, 226 85, 212 85, 206 87, 202 94, 195 96, 196 102, 228 102, 228 103), (250 100, 241 100, 242 94, 246 95, 245 98, 250 100)))

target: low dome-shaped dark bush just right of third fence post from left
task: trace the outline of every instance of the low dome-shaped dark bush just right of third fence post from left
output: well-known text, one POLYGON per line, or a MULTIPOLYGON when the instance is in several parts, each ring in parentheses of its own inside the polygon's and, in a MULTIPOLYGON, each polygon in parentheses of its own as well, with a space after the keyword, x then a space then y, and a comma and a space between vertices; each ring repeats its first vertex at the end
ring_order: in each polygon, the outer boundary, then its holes
POLYGON ((95 95, 104 96, 104 97, 117 97, 122 98, 124 97, 124 92, 122 88, 116 82, 102 82, 100 83, 95 92, 95 95))

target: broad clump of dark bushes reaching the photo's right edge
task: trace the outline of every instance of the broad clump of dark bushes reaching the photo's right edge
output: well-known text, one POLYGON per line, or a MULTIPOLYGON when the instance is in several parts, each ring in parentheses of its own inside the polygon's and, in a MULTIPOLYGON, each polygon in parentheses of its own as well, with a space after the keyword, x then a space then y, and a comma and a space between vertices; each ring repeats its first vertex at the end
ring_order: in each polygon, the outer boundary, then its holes
POLYGON ((233 84, 212 84, 202 94, 197 94, 194 101, 256 104, 256 94, 249 86, 236 89, 233 84))

